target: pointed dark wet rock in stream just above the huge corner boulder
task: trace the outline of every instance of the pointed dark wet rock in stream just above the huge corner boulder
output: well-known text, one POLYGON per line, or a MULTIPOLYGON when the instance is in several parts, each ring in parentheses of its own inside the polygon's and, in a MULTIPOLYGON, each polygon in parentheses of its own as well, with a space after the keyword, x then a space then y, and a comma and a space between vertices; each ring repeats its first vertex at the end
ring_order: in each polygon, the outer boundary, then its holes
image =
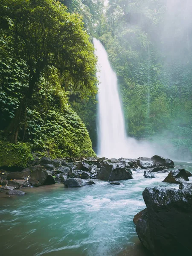
POLYGON ((163 182, 180 184, 182 181, 189 181, 185 169, 177 169, 169 172, 168 176, 163 180, 163 182))

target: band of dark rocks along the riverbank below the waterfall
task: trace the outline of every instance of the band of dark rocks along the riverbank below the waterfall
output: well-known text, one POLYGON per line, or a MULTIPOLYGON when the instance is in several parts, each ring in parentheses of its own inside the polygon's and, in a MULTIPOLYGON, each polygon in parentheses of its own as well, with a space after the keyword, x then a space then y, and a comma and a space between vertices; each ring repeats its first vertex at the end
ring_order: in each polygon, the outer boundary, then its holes
MULTIPOLYGON (((145 178, 154 177, 154 172, 168 172, 174 167, 170 159, 159 156, 138 159, 108 159, 90 157, 84 159, 55 159, 49 157, 35 157, 29 166, 20 172, 14 168, 0 170, 0 192, 27 186, 43 186, 64 183, 67 187, 93 185, 94 179, 117 181, 133 178, 133 172, 145 169, 145 178)), ((118 183, 111 183, 118 184, 118 183)), ((18 192, 7 192, 12 195, 21 195, 18 192)))

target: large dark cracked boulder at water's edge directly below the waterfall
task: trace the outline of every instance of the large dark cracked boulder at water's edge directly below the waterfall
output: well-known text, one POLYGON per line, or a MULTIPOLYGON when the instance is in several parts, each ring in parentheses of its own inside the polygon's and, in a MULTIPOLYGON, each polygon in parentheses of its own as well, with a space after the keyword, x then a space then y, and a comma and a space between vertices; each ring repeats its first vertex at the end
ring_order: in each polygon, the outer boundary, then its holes
POLYGON ((126 167, 126 164, 111 164, 103 163, 101 169, 97 174, 97 178, 100 180, 129 180, 132 179, 132 172, 126 167))

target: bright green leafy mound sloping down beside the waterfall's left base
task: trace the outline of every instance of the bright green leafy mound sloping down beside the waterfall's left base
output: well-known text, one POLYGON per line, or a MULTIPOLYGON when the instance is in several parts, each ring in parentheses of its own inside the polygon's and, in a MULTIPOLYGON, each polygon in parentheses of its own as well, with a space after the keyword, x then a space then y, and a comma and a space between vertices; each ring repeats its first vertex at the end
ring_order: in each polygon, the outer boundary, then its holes
MULTIPOLYGON (((33 118, 38 124, 38 114, 33 118)), ((33 151, 47 151, 51 158, 96 155, 84 123, 67 104, 62 111, 50 109, 34 133, 33 151)))

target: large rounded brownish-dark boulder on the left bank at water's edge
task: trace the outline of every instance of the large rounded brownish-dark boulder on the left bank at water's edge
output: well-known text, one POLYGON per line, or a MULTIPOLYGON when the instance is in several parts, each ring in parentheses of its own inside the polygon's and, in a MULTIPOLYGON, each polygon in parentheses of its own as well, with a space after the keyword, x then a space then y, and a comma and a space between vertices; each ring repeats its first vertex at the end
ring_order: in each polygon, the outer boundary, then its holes
POLYGON ((32 183, 33 186, 50 185, 55 184, 55 180, 46 170, 39 166, 35 166, 32 167, 29 183, 32 183))

